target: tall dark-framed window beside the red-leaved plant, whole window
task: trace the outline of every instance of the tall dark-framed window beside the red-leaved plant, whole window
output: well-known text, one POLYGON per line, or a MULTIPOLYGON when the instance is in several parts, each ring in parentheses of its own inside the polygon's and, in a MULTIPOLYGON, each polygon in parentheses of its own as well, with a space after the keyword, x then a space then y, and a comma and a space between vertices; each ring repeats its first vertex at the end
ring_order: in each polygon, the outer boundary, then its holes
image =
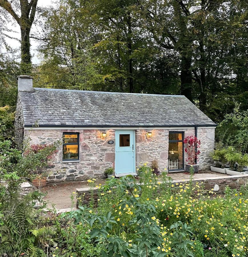
POLYGON ((184 170, 183 132, 169 132, 169 171, 184 170))

